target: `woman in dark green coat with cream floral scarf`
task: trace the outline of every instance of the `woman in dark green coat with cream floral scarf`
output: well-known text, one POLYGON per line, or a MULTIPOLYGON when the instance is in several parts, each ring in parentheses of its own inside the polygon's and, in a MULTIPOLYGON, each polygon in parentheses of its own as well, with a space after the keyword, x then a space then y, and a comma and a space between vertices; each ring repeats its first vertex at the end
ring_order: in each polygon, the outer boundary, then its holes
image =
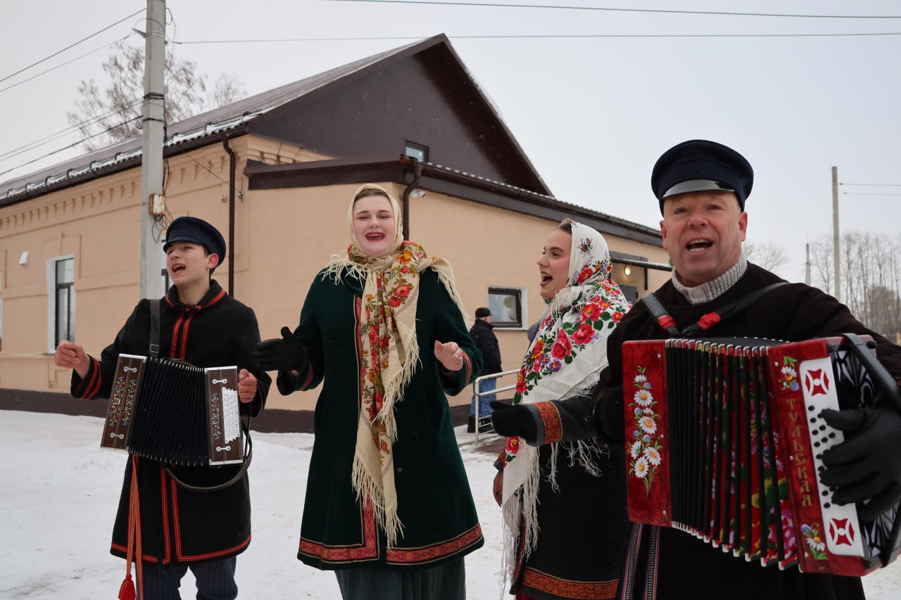
POLYGON ((463 600, 484 540, 445 393, 481 355, 450 265, 403 240, 387 190, 361 186, 348 229, 300 324, 256 354, 283 395, 323 384, 297 558, 335 570, 344 600, 463 600))

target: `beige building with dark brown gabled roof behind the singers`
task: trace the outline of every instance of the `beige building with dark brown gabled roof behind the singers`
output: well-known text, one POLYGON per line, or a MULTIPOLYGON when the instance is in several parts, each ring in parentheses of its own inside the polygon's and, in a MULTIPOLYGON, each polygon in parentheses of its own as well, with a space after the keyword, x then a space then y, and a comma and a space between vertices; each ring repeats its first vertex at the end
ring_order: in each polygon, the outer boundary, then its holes
MULTIPOLYGON (((168 136, 161 239, 180 215, 214 223, 229 247, 215 277, 254 308, 263 338, 296 325, 314 275, 346 249, 350 195, 365 182, 401 200, 407 239, 451 261, 470 314, 491 306, 505 369, 542 312, 535 261, 561 219, 605 235, 633 298, 669 277, 657 230, 551 195, 444 36, 169 124, 168 136)), ((0 183, 0 408, 104 412, 68 395, 52 353, 73 339, 99 356, 131 314, 140 196, 140 139, 0 183)), ((308 430, 317 394, 273 386, 256 427, 308 430)), ((450 401, 465 420, 469 392, 450 401)))

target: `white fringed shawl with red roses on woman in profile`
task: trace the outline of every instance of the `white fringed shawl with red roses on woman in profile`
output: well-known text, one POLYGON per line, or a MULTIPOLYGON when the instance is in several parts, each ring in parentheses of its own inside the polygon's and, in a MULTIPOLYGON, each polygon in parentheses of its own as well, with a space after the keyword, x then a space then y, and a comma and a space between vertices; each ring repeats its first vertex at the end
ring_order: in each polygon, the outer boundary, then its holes
MULTIPOLYGON (((587 225, 569 219, 560 223, 565 224, 572 229, 569 279, 547 301, 539 319, 538 332, 516 379, 514 405, 562 400, 594 388, 601 370, 607 366, 607 336, 630 308, 610 278, 613 267, 604 237, 587 225)), ((578 442, 570 448, 592 473, 596 472, 593 449, 596 446, 592 441, 578 442)), ((557 444, 552 444, 552 451, 556 453, 557 444)), ((538 541, 538 449, 523 444, 517 437, 509 438, 501 460, 505 463, 502 502, 508 546, 523 531, 520 519, 524 519, 528 553, 538 541), (509 536, 513 536, 512 540, 509 536)), ((551 470, 551 482, 554 477, 551 470)), ((509 550, 505 549, 505 553, 512 559, 509 550)))

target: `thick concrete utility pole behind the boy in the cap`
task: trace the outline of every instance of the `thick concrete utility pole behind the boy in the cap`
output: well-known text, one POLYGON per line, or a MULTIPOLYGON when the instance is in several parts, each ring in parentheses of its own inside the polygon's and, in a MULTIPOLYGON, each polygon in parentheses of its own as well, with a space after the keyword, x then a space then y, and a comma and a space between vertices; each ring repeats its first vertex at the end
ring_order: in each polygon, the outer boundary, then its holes
POLYGON ((166 61, 166 0, 147 0, 144 37, 143 150, 141 154, 141 298, 165 294, 159 218, 163 196, 163 71, 166 61), (156 232, 154 232, 156 230, 156 232))

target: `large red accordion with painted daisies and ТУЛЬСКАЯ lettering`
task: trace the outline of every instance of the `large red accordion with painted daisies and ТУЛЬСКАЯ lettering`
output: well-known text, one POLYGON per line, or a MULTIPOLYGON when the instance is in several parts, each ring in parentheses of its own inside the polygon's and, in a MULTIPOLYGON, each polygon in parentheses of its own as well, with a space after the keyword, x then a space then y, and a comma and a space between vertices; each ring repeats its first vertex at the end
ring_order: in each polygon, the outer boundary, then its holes
POLYGON ((779 568, 861 576, 887 565, 898 506, 865 523, 817 477, 844 439, 820 411, 872 405, 877 386, 880 402, 896 401, 894 379, 852 335, 626 342, 630 519, 779 568))

